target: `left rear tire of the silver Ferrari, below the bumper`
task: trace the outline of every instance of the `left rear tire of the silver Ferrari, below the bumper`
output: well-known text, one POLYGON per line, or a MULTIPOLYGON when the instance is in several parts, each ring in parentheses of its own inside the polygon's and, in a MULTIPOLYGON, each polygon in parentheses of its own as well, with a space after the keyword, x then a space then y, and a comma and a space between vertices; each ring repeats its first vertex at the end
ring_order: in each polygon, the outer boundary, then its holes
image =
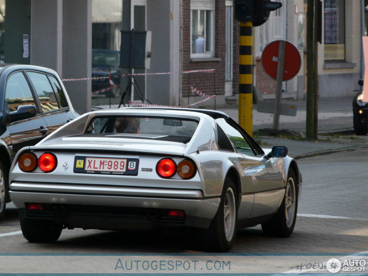
POLYGON ((20 219, 23 236, 31 243, 53 243, 63 230, 49 221, 20 219))

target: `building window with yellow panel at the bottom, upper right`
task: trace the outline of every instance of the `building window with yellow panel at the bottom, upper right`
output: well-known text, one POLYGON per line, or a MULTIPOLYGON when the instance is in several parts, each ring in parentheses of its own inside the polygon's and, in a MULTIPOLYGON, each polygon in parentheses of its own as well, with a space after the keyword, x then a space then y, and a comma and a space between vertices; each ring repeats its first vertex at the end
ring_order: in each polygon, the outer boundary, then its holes
POLYGON ((345 60, 344 0, 325 0, 325 60, 345 60))

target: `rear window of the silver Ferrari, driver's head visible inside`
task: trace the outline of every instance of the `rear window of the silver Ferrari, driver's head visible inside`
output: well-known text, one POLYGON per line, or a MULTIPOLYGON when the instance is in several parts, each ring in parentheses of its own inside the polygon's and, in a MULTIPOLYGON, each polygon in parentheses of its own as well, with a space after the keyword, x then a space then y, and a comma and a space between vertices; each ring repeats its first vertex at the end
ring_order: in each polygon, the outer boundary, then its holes
POLYGON ((187 143, 198 121, 187 118, 105 116, 93 118, 85 135, 187 143))

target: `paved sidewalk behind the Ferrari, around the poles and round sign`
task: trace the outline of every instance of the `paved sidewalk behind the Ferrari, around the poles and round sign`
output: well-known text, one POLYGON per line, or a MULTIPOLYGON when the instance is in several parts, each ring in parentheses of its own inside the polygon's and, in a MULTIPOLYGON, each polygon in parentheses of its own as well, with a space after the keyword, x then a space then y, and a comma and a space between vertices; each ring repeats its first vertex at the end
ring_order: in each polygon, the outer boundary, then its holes
MULTIPOLYGON (((289 155, 294 158, 322 155, 337 151, 351 150, 359 146, 367 146, 367 136, 356 136, 353 133, 352 97, 320 99, 318 112, 319 141, 292 140, 280 137, 261 136, 262 147, 268 148, 275 145, 285 145, 289 149, 289 155), (335 136, 327 136, 335 133, 335 136), (339 132, 342 135, 339 135, 339 132), (326 136, 325 136, 326 135, 326 136)), ((296 105, 295 117, 280 116, 280 129, 294 130, 305 133, 306 102, 305 100, 283 100, 296 105)), ((261 128, 272 128, 273 114, 259 113, 253 106, 253 131, 261 128)), ((235 121, 238 121, 238 106, 225 106, 217 109, 225 112, 235 121)))

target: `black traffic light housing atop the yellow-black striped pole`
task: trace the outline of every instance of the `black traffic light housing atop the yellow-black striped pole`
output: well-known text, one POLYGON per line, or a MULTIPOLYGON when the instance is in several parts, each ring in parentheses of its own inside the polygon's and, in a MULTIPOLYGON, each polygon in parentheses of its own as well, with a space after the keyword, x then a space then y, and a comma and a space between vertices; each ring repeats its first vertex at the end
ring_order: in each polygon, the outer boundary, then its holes
POLYGON ((268 20, 270 11, 282 7, 281 2, 269 0, 235 0, 235 20, 253 22, 253 26, 260 26, 268 20))

